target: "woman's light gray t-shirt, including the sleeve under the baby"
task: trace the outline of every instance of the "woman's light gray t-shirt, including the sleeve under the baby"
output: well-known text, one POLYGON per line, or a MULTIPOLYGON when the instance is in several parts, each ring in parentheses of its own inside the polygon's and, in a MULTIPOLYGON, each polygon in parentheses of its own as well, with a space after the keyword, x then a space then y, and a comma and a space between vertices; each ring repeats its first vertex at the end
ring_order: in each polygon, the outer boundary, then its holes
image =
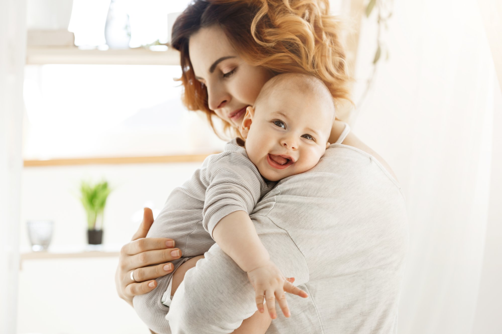
MULTIPOLYGON (((331 144, 250 217, 271 260, 309 294, 288 295, 291 318, 277 308, 267 334, 397 332, 408 221, 401 187, 373 156, 331 144)), ((246 273, 217 244, 204 255, 166 315, 173 334, 228 333, 256 312, 246 273)))

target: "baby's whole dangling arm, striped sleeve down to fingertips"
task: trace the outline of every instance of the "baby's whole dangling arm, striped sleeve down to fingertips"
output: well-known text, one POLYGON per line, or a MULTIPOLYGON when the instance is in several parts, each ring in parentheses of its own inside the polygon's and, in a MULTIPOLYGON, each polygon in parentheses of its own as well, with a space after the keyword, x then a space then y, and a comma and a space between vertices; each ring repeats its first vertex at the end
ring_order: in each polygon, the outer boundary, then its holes
MULTIPOLYGON (((216 156, 218 157, 218 156, 216 156)), ((272 318, 276 317, 275 297, 289 317, 284 292, 307 297, 305 291, 286 280, 270 260, 255 225, 249 218, 267 187, 256 166, 245 155, 229 153, 209 161, 201 171, 202 184, 207 184, 202 225, 235 263, 247 273, 256 293, 256 304, 264 312, 264 295, 272 318)))

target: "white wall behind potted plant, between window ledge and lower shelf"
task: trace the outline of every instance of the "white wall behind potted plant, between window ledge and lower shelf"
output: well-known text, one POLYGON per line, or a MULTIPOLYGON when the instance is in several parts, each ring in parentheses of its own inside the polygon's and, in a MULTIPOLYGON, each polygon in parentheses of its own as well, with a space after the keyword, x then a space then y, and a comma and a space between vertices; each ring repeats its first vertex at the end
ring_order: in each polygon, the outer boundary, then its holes
POLYGON ((151 202, 162 209, 171 190, 191 177, 201 162, 110 164, 25 168, 22 177, 21 246, 28 247, 27 220, 53 220, 53 245, 83 245, 86 241, 86 216, 80 203, 80 181, 101 178, 113 191, 104 211, 104 243, 131 240, 141 222, 132 216, 151 202))

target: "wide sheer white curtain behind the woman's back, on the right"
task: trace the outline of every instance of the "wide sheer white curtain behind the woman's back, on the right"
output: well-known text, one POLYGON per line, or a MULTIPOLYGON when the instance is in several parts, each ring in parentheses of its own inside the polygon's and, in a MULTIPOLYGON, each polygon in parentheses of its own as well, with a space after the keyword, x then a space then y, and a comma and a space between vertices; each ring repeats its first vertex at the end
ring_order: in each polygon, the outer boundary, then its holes
MULTIPOLYGON (((375 21, 363 20, 356 101, 375 21)), ((407 198, 398 332, 502 333, 502 97, 478 4, 395 0, 382 41, 390 58, 352 124, 407 198)))

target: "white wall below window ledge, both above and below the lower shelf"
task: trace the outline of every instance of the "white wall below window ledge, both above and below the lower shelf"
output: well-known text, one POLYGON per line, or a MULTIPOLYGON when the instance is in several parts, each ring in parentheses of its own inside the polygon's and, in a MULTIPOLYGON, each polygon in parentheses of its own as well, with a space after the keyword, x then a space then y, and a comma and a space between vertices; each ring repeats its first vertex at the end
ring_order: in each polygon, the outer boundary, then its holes
MULTIPOLYGON (((115 188, 104 213, 104 244, 118 251, 139 222, 132 216, 145 202, 161 209, 171 190, 200 166, 194 163, 123 164, 25 168, 22 175, 21 234, 26 221, 54 220, 52 246, 85 245, 86 218, 79 200, 82 178, 103 177, 115 188)), ((141 219, 141 217, 138 217, 141 219)), ((134 309, 115 290, 116 258, 27 260, 19 273, 18 333, 149 333, 134 309)))

